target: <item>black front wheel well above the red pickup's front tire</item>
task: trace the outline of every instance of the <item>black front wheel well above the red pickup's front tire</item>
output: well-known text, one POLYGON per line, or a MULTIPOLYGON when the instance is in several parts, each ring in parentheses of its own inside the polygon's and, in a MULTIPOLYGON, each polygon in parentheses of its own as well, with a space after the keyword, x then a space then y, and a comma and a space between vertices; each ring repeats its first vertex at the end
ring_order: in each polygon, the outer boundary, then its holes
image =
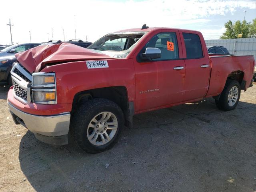
POLYGON ((131 103, 128 102, 128 94, 127 94, 126 87, 113 86, 113 87, 97 88, 97 89, 78 92, 74 96, 74 100, 72 104, 72 112, 74 112, 80 104, 87 102, 88 100, 91 100, 93 98, 105 98, 118 104, 118 106, 120 106, 120 108, 124 113, 126 125, 130 127, 130 124, 132 124, 132 116, 133 116, 132 110, 134 110, 134 108, 133 108, 133 104, 131 105, 131 103))

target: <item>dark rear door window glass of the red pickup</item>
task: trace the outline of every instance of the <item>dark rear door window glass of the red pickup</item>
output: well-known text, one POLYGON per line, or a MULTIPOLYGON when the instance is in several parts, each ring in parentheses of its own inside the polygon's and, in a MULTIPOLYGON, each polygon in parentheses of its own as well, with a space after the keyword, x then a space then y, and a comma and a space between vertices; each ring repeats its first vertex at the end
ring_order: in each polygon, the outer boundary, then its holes
POLYGON ((185 41, 187 59, 202 58, 202 45, 200 38, 197 34, 183 33, 185 41))

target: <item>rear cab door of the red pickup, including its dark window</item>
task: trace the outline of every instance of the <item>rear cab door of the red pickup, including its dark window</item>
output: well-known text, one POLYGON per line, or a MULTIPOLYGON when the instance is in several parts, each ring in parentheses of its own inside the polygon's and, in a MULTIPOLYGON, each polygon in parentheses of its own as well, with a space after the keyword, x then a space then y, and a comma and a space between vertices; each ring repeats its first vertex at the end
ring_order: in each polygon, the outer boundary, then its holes
POLYGON ((200 32, 179 30, 186 65, 183 101, 203 98, 209 88, 210 60, 200 32))

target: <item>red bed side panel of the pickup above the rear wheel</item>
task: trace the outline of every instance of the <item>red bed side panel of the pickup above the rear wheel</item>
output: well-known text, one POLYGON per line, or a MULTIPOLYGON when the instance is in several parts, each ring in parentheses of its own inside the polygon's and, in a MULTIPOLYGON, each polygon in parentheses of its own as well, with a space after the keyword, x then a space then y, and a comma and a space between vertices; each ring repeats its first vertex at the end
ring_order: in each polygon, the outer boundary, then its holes
POLYGON ((216 96, 220 94, 226 84, 228 75, 234 71, 244 72, 243 80, 246 81, 245 90, 252 80, 253 56, 210 56, 212 64, 210 86, 206 96, 216 96))

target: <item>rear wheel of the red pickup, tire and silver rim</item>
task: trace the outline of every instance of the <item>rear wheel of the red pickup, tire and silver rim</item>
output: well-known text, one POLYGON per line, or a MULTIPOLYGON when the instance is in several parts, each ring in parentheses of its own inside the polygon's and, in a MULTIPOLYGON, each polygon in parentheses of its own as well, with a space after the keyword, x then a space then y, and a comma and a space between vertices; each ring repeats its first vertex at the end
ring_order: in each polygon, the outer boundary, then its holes
POLYGON ((239 102, 240 93, 241 88, 239 82, 228 79, 219 100, 215 100, 215 103, 221 110, 234 110, 239 102))

